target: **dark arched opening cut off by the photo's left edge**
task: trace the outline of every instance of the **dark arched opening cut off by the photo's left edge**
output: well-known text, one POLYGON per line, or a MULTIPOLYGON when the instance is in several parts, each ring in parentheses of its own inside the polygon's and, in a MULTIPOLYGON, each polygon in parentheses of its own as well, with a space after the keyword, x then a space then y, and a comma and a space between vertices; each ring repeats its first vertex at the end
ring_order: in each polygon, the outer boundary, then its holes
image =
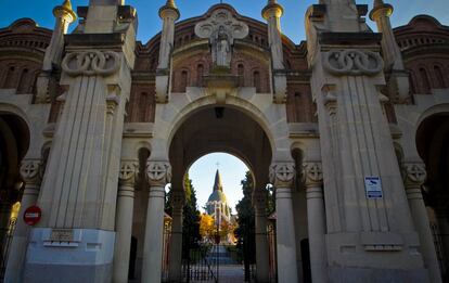
MULTIPOLYGON (((21 117, 0 112, 0 272, 3 273, 22 200, 21 162, 28 151, 29 130, 21 117)), ((1 278, 3 274, 0 274, 1 278)))

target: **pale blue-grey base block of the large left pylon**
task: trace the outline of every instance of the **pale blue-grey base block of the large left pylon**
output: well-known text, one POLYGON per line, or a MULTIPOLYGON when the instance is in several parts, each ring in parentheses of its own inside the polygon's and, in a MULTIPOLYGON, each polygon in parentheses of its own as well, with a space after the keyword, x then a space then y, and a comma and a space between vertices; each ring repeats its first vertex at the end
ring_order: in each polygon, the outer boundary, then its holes
POLYGON ((33 229, 24 282, 111 282, 115 232, 74 229, 69 242, 51 241, 52 229, 33 229))

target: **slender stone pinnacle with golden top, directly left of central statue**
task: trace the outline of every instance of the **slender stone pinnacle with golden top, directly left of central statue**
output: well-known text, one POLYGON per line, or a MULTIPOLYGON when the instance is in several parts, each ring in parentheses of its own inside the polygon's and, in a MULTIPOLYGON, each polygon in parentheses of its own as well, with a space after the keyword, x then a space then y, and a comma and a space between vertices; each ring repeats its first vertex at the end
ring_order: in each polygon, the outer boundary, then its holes
POLYGON ((163 20, 163 30, 156 74, 156 101, 166 103, 168 101, 170 55, 175 41, 175 22, 180 17, 175 0, 167 0, 167 3, 159 9, 159 17, 163 20))

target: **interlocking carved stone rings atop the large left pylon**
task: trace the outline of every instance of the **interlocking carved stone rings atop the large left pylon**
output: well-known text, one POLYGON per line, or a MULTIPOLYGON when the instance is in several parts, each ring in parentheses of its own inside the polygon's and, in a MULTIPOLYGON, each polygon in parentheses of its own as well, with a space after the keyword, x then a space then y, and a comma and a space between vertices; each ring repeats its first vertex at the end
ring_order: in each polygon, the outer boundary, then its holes
POLYGON ((88 50, 66 55, 62 68, 68 76, 111 76, 120 68, 120 55, 114 51, 88 50))

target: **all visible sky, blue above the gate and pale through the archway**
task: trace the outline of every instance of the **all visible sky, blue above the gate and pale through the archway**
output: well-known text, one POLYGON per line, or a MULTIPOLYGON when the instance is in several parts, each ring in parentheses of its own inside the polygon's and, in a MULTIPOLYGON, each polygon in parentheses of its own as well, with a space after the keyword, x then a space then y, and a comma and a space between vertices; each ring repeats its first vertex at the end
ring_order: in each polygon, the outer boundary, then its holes
MULTIPOLYGON (((31 17, 40 26, 52 28, 54 18, 52 9, 62 3, 63 0, 0 0, 0 27, 8 26, 21 17, 31 17)), ((86 5, 88 0, 72 0, 74 7, 86 5)), ((138 39, 146 42, 161 29, 161 20, 157 16, 159 7, 166 0, 129 0, 126 1, 138 10, 139 33, 138 39)), ((266 0, 228 0, 224 3, 232 4, 239 13, 249 17, 264 21, 260 11, 267 3, 266 0)), ((373 0, 359 0, 357 3, 369 4, 372 8, 373 0)), ((448 0, 397 0, 387 1, 395 7, 392 16, 393 26, 407 24, 416 14, 429 14, 435 16, 441 24, 449 25, 449 2, 448 0)), ((205 13, 213 4, 219 3, 217 0, 176 0, 181 12, 181 20, 197 16, 205 13)), ((295 43, 305 39, 304 14, 307 8, 318 0, 279 0, 285 13, 282 17, 282 30, 295 43)), ((375 26, 369 22, 375 30, 375 26)), ((72 25, 72 29, 75 25, 72 25)), ((190 177, 197 191, 198 205, 204 206, 214 185, 216 163, 220 163, 220 172, 230 205, 235 213, 234 206, 243 196, 240 182, 247 170, 246 166, 238 158, 228 154, 210 154, 200 158, 193 164, 190 177)))

